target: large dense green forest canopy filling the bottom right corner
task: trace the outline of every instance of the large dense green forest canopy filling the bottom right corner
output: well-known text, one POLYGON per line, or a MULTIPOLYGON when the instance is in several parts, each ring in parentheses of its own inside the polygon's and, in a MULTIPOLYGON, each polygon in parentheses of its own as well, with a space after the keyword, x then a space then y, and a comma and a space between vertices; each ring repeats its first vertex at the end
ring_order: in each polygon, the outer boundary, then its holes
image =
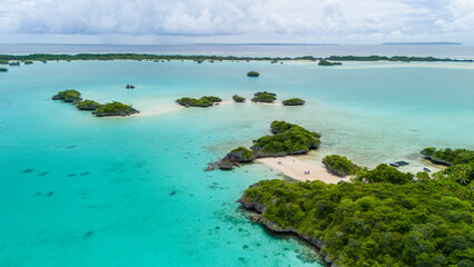
POLYGON ((470 266, 474 199, 464 189, 446 180, 402 186, 268 180, 241 199, 266 207, 267 224, 323 241, 323 253, 337 266, 470 266))

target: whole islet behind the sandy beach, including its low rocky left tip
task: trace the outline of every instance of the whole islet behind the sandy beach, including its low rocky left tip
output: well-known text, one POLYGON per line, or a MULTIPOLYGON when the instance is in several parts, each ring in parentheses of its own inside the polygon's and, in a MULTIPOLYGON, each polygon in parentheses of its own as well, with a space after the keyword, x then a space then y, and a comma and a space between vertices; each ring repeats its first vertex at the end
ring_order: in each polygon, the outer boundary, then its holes
POLYGON ((251 162, 256 158, 285 157, 303 155, 319 147, 320 135, 306 130, 298 125, 286 121, 274 121, 270 125, 271 136, 265 136, 254 141, 250 149, 239 147, 217 161, 221 169, 233 169, 239 164, 251 162))

